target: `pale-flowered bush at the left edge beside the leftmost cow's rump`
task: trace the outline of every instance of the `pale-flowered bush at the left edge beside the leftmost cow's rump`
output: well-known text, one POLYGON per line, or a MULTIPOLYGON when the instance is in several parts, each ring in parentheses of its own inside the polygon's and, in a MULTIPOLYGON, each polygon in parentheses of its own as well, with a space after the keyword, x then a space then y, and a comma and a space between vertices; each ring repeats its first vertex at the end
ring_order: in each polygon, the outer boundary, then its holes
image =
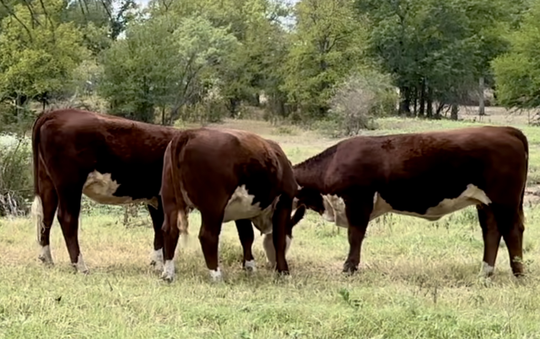
POLYGON ((0 216, 24 215, 32 198, 29 138, 0 134, 0 216))

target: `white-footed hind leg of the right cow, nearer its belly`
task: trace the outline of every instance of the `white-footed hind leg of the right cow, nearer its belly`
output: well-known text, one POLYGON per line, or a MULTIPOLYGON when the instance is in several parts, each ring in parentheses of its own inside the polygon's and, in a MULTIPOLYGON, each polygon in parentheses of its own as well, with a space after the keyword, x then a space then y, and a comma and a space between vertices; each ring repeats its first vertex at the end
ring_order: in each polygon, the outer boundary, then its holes
POLYGON ((495 215, 490 206, 477 205, 478 221, 482 227, 482 237, 484 239, 484 257, 482 262, 481 275, 489 277, 495 269, 495 260, 499 243, 501 242, 501 232, 497 227, 495 215))

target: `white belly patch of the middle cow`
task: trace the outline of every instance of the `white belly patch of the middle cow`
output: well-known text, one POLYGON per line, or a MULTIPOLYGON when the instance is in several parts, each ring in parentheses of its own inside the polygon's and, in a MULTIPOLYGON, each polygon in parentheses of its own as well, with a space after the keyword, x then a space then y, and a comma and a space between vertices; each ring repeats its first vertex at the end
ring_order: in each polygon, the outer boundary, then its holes
POLYGON ((247 192, 246 185, 237 187, 225 206, 223 222, 249 219, 262 233, 272 232, 272 212, 278 198, 265 209, 260 208, 260 202, 253 205, 254 198, 247 192))

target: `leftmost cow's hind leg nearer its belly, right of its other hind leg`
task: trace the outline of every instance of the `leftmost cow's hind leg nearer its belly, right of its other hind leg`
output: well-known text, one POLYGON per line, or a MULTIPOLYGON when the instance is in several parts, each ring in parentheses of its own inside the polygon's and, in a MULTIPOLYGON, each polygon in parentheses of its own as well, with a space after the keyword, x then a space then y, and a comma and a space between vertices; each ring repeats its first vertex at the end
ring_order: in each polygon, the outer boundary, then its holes
POLYGON ((83 255, 80 253, 78 239, 78 222, 82 190, 80 187, 74 186, 77 185, 58 190, 58 222, 60 223, 60 227, 62 227, 62 233, 64 234, 64 240, 68 247, 71 265, 75 267, 78 272, 86 274, 89 270, 83 260, 83 255))

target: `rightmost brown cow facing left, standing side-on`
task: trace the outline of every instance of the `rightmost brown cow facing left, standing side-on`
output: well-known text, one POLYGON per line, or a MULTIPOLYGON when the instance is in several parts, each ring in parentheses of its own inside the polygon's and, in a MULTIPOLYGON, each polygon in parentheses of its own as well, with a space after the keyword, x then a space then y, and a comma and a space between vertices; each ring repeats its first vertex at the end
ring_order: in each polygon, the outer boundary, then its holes
POLYGON ((504 238, 514 275, 523 274, 523 194, 528 141, 516 128, 354 137, 293 166, 303 204, 348 227, 344 272, 354 272, 368 222, 393 212, 430 221, 476 205, 490 276, 504 238))

